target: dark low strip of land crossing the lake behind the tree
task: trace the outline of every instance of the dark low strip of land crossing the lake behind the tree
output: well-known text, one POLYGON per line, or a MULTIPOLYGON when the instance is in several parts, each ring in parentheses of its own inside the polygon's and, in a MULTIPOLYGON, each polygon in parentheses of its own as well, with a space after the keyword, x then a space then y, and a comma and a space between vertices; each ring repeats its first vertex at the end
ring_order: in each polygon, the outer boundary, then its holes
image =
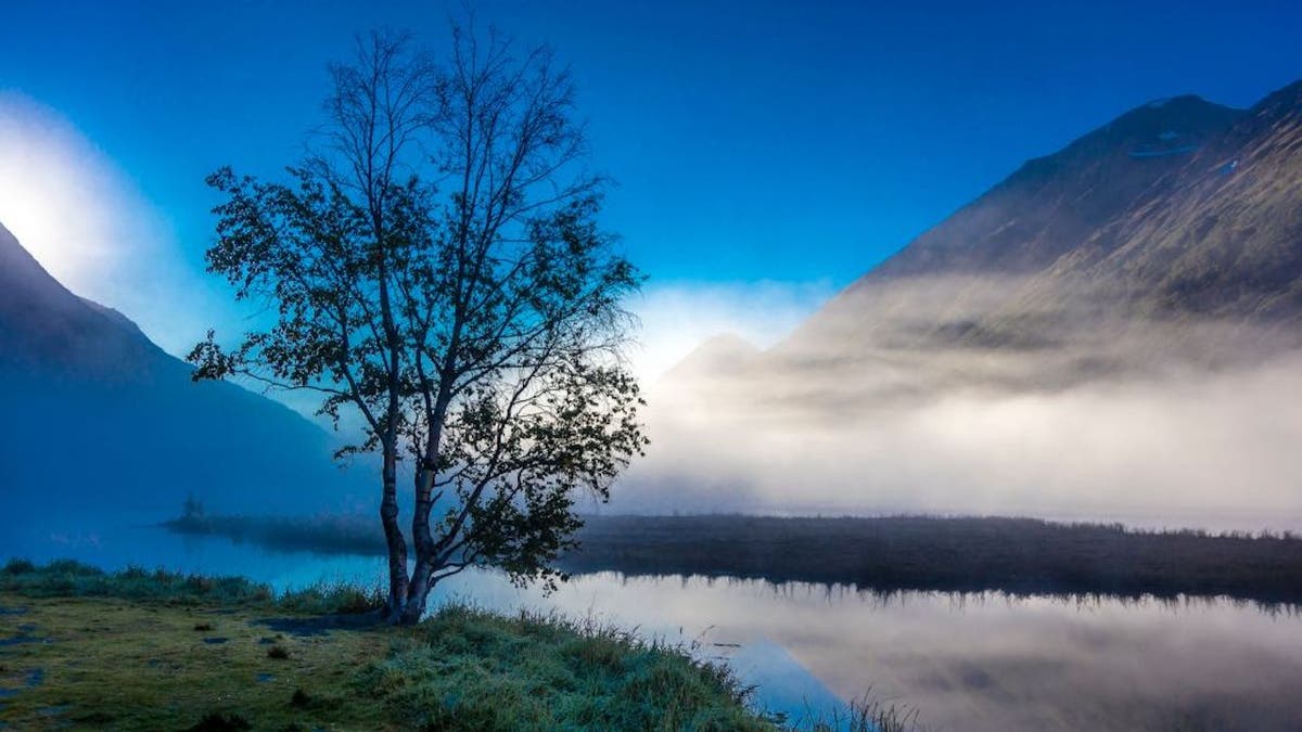
MULTIPOLYGON (((383 555, 370 517, 165 524, 275 550, 383 555)), ((1302 538, 1005 517, 589 516, 570 573, 710 576, 906 590, 1302 604, 1302 538)))

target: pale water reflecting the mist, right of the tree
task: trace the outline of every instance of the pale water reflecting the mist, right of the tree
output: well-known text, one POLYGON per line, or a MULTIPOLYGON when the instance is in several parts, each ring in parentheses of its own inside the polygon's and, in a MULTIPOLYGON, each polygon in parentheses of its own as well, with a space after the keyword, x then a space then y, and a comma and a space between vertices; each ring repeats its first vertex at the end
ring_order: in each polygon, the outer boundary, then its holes
POLYGON ((943 729, 1302 729, 1302 619, 1250 603, 609 574, 552 602, 775 643, 836 697, 871 688, 943 729))

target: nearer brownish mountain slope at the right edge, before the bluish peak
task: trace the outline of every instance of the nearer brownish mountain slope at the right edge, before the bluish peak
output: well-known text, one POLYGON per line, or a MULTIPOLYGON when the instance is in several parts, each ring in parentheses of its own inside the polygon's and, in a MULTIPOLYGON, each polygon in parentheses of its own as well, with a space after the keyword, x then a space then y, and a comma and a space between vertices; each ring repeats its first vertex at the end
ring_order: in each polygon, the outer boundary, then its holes
POLYGON ((1302 313, 1302 82, 1253 107, 1159 195, 1101 227, 1051 272, 1116 277, 1147 313, 1302 313))

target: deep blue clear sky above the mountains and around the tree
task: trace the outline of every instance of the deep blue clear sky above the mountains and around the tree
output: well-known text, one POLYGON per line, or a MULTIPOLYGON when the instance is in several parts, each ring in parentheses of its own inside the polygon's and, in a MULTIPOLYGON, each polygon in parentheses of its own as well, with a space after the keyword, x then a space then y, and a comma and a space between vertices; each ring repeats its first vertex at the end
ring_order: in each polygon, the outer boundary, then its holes
MULTIPOLYGON (((717 306, 681 328, 674 353, 710 328, 772 340, 1022 160, 1146 100, 1247 106, 1302 77, 1297 3, 976 5, 475 3, 482 22, 573 65, 594 163, 618 181, 605 223, 652 277, 646 307, 672 305, 648 313, 651 328, 699 314, 700 293, 717 306)), ((105 244, 129 266, 83 267, 74 284, 117 298, 171 350, 204 318, 223 322, 223 292, 198 274, 212 228, 203 176, 294 162, 324 66, 353 34, 408 27, 437 47, 461 8, 7 0, 0 115, 25 109, 29 135, 57 128, 55 147, 82 150, 59 164, 109 180, 87 195, 130 202, 104 216, 150 221, 105 244), (177 288, 189 297, 161 309, 141 294, 177 288)), ((21 168, 0 160, 0 195, 23 188, 21 168)), ((86 206, 70 199, 57 218, 86 206)), ((56 275, 73 267, 34 250, 56 275)))

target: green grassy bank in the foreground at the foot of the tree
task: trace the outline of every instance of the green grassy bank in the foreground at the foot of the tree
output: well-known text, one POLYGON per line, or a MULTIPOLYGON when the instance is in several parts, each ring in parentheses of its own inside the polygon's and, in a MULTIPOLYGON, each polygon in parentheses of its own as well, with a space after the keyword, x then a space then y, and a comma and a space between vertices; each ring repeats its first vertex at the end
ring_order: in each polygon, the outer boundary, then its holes
POLYGON ((378 599, 10 561, 0 568, 0 727, 781 728, 747 707, 750 690, 727 667, 682 646, 465 604, 391 628, 366 615, 378 599))

